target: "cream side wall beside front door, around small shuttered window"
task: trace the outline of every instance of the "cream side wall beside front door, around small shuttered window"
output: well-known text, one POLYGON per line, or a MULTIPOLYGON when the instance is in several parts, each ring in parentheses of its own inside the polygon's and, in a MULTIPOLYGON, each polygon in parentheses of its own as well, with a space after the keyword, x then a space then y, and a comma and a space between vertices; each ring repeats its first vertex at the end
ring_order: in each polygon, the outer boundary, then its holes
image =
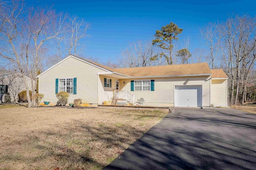
POLYGON ((112 100, 114 96, 114 90, 116 88, 116 79, 99 76, 99 104, 102 104, 104 101, 112 100), (104 87, 104 78, 109 78, 112 81, 112 87, 104 87))

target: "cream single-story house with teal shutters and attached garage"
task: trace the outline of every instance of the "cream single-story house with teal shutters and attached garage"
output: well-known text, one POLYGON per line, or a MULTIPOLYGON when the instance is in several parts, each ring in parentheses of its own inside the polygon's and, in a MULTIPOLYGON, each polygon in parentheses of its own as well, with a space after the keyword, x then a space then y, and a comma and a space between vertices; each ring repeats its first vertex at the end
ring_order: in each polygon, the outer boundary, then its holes
POLYGON ((228 106, 228 76, 207 63, 114 69, 69 55, 38 79, 43 101, 52 105, 56 93, 66 91, 68 103, 81 98, 87 106, 113 98, 144 106, 228 106))

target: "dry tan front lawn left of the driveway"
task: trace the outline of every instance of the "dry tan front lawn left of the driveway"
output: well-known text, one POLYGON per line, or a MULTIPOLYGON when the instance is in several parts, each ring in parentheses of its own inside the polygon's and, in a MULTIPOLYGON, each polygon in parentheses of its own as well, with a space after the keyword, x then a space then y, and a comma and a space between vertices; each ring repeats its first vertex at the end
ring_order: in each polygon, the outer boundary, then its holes
POLYGON ((0 169, 102 169, 167 114, 160 110, 0 110, 0 169))

